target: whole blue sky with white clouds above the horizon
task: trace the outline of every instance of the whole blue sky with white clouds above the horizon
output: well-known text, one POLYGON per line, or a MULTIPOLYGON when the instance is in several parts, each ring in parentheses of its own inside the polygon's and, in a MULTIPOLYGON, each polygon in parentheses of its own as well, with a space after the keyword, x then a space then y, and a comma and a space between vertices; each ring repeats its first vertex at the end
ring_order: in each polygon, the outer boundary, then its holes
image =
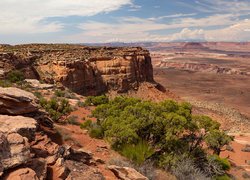
POLYGON ((250 41, 250 0, 0 0, 0 43, 250 41))

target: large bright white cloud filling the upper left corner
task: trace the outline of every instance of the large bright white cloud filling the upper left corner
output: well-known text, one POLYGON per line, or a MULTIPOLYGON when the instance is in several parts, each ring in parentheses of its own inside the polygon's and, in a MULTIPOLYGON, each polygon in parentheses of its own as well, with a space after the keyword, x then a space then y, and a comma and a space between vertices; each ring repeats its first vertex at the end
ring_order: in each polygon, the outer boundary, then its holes
POLYGON ((43 21, 48 17, 93 16, 132 5, 131 0, 1 0, 0 33, 11 34, 56 32, 63 28, 58 22, 43 21))

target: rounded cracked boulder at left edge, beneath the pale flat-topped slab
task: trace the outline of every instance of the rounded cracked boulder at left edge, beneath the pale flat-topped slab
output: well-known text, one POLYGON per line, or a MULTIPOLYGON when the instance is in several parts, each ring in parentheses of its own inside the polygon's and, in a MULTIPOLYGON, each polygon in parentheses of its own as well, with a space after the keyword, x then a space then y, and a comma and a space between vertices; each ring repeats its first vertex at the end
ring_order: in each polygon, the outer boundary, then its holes
POLYGON ((30 159, 30 147, 27 138, 17 133, 0 133, 0 162, 2 170, 26 163, 30 159))

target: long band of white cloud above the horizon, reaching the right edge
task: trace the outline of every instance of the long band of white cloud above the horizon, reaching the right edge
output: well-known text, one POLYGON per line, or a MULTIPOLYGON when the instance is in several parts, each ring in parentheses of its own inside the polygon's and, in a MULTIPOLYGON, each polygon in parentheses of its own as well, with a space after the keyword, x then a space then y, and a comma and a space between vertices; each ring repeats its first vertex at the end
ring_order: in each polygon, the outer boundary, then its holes
POLYGON ((184 18, 168 24, 150 19, 123 17, 119 23, 90 21, 82 23, 82 33, 68 36, 71 42, 136 42, 136 41, 245 41, 250 39, 250 21, 232 20, 230 15, 214 15, 207 18, 184 18), (221 25, 224 28, 206 30, 221 25), (174 34, 155 34, 152 31, 181 29, 174 34))

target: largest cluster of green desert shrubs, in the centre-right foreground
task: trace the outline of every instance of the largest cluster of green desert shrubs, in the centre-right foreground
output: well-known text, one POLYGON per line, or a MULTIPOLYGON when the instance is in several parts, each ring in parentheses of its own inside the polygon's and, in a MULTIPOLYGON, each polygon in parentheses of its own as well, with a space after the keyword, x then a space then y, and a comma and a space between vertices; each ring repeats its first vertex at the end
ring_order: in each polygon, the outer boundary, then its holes
MULTIPOLYGON (((184 168, 181 164, 187 160, 193 165, 190 171, 197 177, 226 176, 230 164, 218 155, 233 138, 210 117, 193 115, 189 103, 172 100, 154 103, 125 97, 104 103, 100 99, 101 105, 93 111, 97 122, 86 122, 83 126, 89 128, 93 137, 108 140, 116 151, 136 164, 150 160, 174 171, 184 168)), ((185 176, 186 171, 178 170, 178 176, 185 176)))

